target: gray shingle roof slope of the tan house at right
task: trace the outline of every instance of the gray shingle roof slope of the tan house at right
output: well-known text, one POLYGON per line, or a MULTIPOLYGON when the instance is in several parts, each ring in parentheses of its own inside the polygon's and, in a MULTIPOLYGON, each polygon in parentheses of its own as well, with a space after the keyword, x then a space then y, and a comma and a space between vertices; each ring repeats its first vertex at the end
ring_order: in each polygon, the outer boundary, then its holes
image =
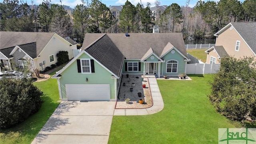
POLYGON ((256 53, 256 22, 231 22, 231 24, 256 53))

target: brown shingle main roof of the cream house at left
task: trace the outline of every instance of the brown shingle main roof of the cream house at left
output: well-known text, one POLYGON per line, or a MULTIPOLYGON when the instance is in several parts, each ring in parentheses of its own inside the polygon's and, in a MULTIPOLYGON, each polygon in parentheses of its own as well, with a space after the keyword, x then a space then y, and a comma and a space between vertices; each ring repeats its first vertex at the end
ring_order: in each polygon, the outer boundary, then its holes
POLYGON ((54 32, 0 32, 0 49, 36 42, 36 56, 42 52, 54 32))

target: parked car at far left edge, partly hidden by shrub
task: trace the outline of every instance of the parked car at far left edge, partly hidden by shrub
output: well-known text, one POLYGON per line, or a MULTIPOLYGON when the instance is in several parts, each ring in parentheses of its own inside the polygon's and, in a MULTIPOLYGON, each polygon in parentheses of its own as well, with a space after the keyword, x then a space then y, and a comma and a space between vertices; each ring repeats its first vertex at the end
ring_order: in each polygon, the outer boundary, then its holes
POLYGON ((31 74, 28 73, 26 75, 23 72, 18 72, 16 70, 8 70, 4 72, 0 72, 0 79, 5 78, 31 78, 31 74))

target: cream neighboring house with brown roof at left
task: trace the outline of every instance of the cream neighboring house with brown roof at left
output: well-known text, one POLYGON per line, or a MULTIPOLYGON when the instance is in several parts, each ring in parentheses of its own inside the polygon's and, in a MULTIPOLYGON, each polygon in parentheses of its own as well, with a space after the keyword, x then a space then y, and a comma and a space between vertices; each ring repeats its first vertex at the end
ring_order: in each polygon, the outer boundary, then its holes
POLYGON ((24 68, 27 61, 31 69, 44 70, 56 64, 59 51, 68 51, 68 58, 74 57, 70 44, 54 32, 0 32, 0 59, 6 68, 12 65, 24 68))

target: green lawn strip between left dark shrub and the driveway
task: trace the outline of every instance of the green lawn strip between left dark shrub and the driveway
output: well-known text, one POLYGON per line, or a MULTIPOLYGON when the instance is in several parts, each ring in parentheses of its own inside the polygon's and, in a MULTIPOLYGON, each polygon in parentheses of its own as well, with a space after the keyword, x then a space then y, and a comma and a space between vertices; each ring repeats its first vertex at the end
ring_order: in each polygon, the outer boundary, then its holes
POLYGON ((1 144, 30 144, 60 103, 56 79, 34 82, 34 85, 44 92, 42 107, 17 126, 1 130, 1 144))

